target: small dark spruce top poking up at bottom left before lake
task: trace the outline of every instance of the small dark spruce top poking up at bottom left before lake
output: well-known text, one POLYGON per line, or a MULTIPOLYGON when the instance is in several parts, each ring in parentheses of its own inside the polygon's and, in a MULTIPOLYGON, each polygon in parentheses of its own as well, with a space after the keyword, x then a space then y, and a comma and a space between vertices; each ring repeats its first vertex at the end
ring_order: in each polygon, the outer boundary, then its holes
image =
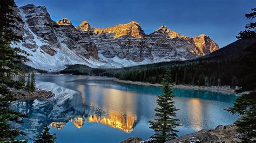
POLYGON ((38 135, 38 137, 34 140, 34 142, 37 143, 53 143, 56 140, 56 134, 50 134, 49 133, 50 128, 47 126, 47 124, 44 125, 44 130, 41 134, 38 135))

